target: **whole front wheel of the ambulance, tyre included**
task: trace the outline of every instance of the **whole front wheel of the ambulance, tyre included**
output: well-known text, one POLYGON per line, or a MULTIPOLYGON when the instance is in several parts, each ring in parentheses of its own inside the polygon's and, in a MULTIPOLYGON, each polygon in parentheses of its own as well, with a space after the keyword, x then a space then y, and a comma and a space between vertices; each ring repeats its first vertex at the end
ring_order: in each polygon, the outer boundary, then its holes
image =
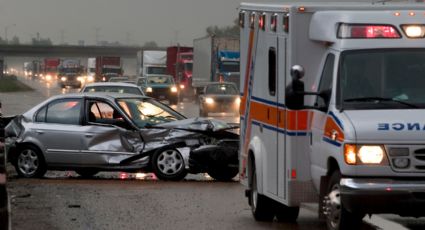
POLYGON ((364 215, 351 213, 341 203, 341 173, 335 171, 329 180, 323 207, 326 215, 326 225, 329 230, 359 229, 364 215))

